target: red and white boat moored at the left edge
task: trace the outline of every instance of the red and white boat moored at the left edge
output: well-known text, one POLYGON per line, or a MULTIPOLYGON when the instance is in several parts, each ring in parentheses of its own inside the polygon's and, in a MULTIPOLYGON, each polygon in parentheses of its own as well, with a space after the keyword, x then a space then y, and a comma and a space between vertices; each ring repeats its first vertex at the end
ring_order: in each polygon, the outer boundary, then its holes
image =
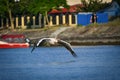
POLYGON ((25 42, 24 35, 2 35, 0 48, 28 48, 29 44, 25 42))

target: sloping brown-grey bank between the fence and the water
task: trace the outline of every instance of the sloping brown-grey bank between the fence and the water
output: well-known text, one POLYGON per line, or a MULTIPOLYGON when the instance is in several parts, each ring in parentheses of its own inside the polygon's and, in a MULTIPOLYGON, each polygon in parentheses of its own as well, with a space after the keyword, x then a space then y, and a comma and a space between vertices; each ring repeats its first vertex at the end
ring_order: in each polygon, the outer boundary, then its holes
POLYGON ((23 34, 26 38, 36 40, 45 37, 57 37, 65 40, 71 45, 120 45, 120 26, 96 27, 53 27, 50 29, 35 29, 9 31, 3 30, 0 34, 23 34))

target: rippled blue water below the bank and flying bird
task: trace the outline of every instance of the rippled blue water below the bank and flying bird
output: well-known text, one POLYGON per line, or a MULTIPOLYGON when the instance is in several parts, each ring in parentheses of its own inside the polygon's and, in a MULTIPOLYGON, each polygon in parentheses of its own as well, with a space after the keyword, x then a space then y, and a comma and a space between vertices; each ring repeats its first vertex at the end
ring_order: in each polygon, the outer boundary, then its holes
POLYGON ((120 80, 120 46, 0 49, 0 80, 120 80))

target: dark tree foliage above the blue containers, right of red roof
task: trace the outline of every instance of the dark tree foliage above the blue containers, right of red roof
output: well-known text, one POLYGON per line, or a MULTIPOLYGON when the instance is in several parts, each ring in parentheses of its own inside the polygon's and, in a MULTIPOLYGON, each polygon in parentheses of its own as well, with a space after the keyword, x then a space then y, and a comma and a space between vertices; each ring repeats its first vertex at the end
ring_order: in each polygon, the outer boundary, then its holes
POLYGON ((103 0, 81 0, 82 7, 79 7, 79 11, 82 12, 97 12, 103 9, 107 3, 103 3, 103 0))

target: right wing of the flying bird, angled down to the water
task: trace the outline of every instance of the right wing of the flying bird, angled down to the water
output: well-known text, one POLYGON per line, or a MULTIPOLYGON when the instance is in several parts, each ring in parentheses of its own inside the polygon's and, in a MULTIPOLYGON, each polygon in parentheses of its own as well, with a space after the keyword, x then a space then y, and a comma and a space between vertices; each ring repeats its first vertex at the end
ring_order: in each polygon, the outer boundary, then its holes
POLYGON ((74 57, 77 57, 77 55, 72 50, 71 45, 68 42, 63 41, 63 40, 58 40, 58 43, 63 45, 67 50, 69 50, 74 57))

